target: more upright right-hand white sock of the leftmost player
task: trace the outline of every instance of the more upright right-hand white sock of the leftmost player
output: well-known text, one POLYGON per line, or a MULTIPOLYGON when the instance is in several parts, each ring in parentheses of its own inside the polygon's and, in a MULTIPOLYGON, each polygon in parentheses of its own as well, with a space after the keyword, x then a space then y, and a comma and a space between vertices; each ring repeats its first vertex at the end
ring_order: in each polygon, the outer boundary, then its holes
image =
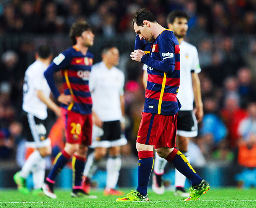
POLYGON ((46 159, 42 158, 38 161, 35 168, 32 169, 34 189, 41 189, 44 183, 46 159))

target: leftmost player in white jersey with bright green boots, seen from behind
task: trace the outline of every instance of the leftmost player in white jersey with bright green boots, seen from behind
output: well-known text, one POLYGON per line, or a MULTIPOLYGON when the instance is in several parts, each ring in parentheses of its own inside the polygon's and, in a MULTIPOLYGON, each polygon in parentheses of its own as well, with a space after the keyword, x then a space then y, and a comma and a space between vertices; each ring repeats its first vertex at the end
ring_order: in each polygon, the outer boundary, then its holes
POLYGON ((52 60, 50 47, 41 45, 36 52, 36 61, 26 70, 23 85, 23 137, 27 144, 36 148, 28 157, 21 171, 14 175, 18 190, 28 194, 26 178, 33 174, 34 193, 40 193, 45 175, 45 156, 50 155, 52 148, 47 138, 47 107, 60 116, 60 108, 50 100, 50 88, 44 78, 44 71, 52 60))

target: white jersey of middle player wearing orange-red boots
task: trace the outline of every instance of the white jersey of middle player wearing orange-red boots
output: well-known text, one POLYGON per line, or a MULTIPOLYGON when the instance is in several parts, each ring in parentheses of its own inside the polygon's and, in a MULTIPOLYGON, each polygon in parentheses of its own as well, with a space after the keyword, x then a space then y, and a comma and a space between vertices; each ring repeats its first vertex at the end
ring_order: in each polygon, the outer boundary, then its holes
POLYGON ((92 110, 102 121, 122 118, 120 95, 123 95, 125 76, 116 67, 108 69, 102 61, 92 66, 89 89, 92 92, 92 110))

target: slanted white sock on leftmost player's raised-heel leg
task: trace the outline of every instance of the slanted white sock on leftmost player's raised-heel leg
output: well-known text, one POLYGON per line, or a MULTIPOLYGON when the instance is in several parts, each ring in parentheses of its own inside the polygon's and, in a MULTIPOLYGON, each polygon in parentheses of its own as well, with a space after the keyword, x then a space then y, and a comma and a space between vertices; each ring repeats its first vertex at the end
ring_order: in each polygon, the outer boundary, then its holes
POLYGON ((28 160, 24 163, 21 171, 21 177, 28 177, 28 174, 32 171, 32 168, 37 165, 38 161, 42 159, 38 150, 35 150, 31 155, 29 155, 28 160))

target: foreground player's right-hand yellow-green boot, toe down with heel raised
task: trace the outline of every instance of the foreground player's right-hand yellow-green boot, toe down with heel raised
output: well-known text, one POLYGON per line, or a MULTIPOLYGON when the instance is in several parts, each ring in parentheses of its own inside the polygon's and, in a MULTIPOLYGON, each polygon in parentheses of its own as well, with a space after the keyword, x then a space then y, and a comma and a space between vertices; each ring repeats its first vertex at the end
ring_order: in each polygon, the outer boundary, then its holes
POLYGON ((204 179, 201 181, 199 185, 191 186, 190 187, 190 196, 186 198, 184 201, 196 201, 199 200, 199 197, 206 193, 207 190, 210 189, 210 185, 204 179))

